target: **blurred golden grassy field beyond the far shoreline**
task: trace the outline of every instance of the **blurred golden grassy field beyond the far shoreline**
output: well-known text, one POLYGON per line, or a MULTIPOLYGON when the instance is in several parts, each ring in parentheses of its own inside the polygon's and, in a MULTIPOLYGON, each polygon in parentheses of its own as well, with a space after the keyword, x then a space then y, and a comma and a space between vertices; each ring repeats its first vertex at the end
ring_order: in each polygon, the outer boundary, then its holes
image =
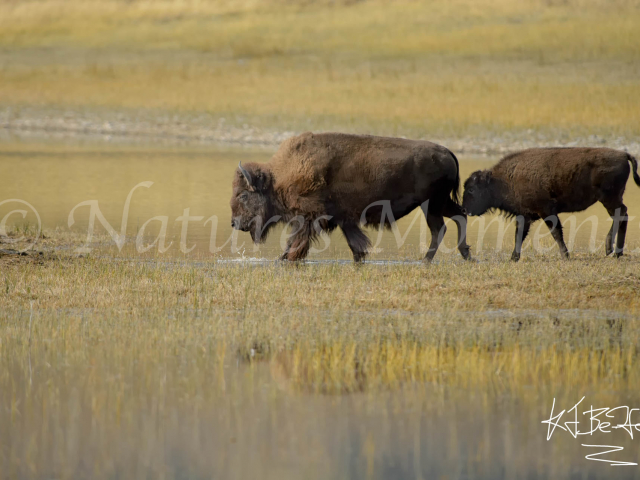
POLYGON ((635 0, 3 1, 0 106, 5 126, 66 116, 58 128, 82 131, 74 118, 90 111, 106 133, 119 112, 133 124, 624 144, 640 125, 638 24, 635 0))

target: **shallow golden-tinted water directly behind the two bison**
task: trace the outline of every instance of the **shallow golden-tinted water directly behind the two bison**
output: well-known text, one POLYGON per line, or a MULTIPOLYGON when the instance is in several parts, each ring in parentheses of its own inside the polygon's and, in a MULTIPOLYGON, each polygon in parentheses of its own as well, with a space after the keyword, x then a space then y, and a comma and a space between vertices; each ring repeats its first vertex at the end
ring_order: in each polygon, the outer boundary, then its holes
MULTIPOLYGON (((282 252, 287 229, 276 229, 266 244, 255 246, 247 233, 232 237, 229 200, 231 180, 238 162, 267 161, 273 149, 239 147, 154 148, 144 146, 69 145, 64 143, 0 143, 2 165, 2 198, 20 199, 37 210, 45 228, 69 228, 74 207, 87 201, 97 201, 104 221, 114 234, 126 231, 124 251, 146 255, 202 258, 266 258, 275 259, 282 252), (140 185, 143 182, 152 182, 140 185), (133 193, 132 189, 139 185, 133 193), (128 211, 127 196, 131 193, 128 211), (126 216, 126 222, 123 219, 126 216), (183 220, 189 220, 183 236, 183 220), (155 220, 152 220, 154 219, 155 220), (146 226, 145 223, 149 222, 146 226), (165 224, 166 251, 153 241, 165 224), (123 223, 125 223, 123 230, 123 223), (144 226, 144 228, 143 228, 144 226), (140 247, 135 240, 140 230, 140 247), (187 252, 188 253, 185 253, 187 252)), ((461 177, 472 171, 490 167, 497 158, 460 157, 461 177)), ((640 189, 630 183, 625 201, 633 216, 627 233, 628 251, 640 252, 640 189)), ((73 213, 73 231, 86 235, 90 206, 80 206, 73 213)), ((7 225, 29 222, 35 215, 16 202, 0 205, 0 218, 13 209, 28 211, 26 218, 18 213, 7 219, 7 225)), ((98 211, 96 210, 96 212, 98 211)), ((565 240, 570 250, 604 252, 604 237, 611 226, 605 209, 597 204, 575 215, 562 217, 565 240), (592 217, 593 216, 593 217, 592 217), (583 224, 583 222, 591 218, 583 224), (574 222, 574 223, 572 223, 574 222), (581 226, 582 225, 582 226, 581 226), (595 227, 595 229, 594 229, 595 227)), ((496 215, 470 218, 469 244, 472 252, 510 251, 513 248, 513 223, 496 215), (495 221, 494 221, 495 220, 495 221), (500 224, 502 222, 502 225, 500 224), (501 233, 501 228, 504 231, 501 233)), ((95 219, 95 234, 107 232, 99 216, 95 219)), ((438 258, 454 258, 455 225, 449 222, 438 258)), ((396 232, 368 230, 376 250, 372 260, 418 260, 423 257, 430 240, 424 216, 419 210, 398 222, 396 232)), ((108 239, 107 246, 116 249, 108 239)), ((103 247, 105 244, 102 245, 103 247)), ((557 255, 557 247, 543 222, 531 230, 524 252, 557 255)), ((339 232, 321 239, 309 259, 350 259, 351 255, 339 232)))

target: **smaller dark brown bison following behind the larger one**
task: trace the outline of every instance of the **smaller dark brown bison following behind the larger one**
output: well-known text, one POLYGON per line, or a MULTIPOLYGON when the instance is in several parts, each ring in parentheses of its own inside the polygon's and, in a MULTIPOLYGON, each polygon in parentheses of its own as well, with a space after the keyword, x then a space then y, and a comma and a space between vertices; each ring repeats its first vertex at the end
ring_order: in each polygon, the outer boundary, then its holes
POLYGON ((629 163, 640 186, 636 159, 610 148, 532 148, 507 155, 489 170, 471 174, 462 206, 469 215, 500 210, 518 220, 511 259, 518 261, 531 223, 544 219, 561 254, 569 258, 558 214, 579 212, 600 202, 614 222, 607 235, 607 255, 622 255, 627 207, 622 203, 629 163))

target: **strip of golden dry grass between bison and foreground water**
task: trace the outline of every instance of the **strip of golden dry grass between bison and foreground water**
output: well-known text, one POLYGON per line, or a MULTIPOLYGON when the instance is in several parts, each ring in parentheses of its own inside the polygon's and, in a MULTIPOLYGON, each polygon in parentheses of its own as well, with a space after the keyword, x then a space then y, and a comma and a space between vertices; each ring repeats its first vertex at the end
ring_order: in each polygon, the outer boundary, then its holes
POLYGON ((10 356, 26 348, 20 319, 33 308, 38 344, 222 348, 272 358, 321 391, 414 381, 625 389, 640 374, 635 256, 362 267, 45 259, 3 267, 10 356))

